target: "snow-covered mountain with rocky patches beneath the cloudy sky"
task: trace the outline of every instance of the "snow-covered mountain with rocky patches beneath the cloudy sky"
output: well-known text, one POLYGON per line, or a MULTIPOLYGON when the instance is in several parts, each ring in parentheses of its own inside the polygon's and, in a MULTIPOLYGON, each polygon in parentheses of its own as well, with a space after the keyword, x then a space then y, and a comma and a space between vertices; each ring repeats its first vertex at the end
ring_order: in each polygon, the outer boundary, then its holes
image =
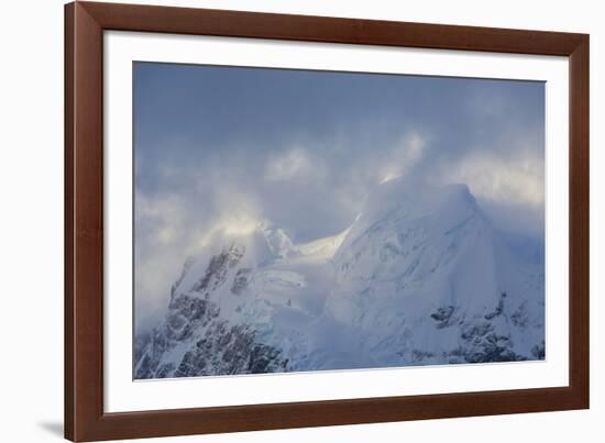
POLYGON ((187 261, 135 378, 544 357, 543 245, 492 225, 465 185, 396 179, 342 233, 266 223, 187 261))

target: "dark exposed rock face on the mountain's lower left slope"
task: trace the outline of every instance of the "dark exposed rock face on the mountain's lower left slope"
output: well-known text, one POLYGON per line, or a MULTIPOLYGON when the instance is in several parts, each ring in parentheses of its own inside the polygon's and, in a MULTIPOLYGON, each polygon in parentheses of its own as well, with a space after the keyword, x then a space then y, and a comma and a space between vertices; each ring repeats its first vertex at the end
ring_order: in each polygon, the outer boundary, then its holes
MULTIPOLYGON (((233 325, 221 319, 218 304, 208 299, 209 291, 226 281, 229 269, 240 263, 244 253, 243 246, 232 245, 215 255, 190 295, 177 292, 183 280, 183 276, 179 277, 170 290, 165 321, 151 333, 140 334, 136 339, 135 378, 255 374, 287 369, 287 361, 280 357, 279 350, 257 342, 255 331, 248 325, 233 325), (199 334, 198 331, 204 333, 200 339, 194 336, 199 334), (191 344, 180 362, 162 363, 166 352, 187 341, 191 344)), ((186 264, 184 273, 189 268, 190 264, 186 264)), ((238 270, 231 287, 233 294, 245 289, 250 272, 248 268, 238 270)))

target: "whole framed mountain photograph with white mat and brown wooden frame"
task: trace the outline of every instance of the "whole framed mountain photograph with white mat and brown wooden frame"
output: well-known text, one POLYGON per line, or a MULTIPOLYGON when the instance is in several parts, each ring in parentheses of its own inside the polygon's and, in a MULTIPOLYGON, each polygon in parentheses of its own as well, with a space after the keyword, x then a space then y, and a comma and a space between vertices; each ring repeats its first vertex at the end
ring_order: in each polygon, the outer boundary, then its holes
POLYGON ((588 408, 588 36, 65 9, 65 436, 588 408))

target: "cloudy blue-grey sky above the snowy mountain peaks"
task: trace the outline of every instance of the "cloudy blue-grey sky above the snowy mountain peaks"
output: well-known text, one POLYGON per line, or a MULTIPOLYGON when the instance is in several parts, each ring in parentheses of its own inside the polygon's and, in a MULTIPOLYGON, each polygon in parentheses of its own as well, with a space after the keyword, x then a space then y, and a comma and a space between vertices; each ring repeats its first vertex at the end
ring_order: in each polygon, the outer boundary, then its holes
POLYGON ((144 318, 218 224, 331 235, 399 175, 465 182, 499 228, 541 237, 544 85, 136 63, 134 160, 144 318))

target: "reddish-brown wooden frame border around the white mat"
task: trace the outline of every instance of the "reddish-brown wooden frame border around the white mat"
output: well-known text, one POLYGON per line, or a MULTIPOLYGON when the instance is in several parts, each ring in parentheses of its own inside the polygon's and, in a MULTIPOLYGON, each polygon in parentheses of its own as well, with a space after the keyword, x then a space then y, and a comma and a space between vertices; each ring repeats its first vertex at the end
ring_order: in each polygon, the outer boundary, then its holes
POLYGON ((588 408, 588 35, 75 2, 65 7, 65 436, 73 441, 588 408), (103 412, 106 30, 570 57, 570 386, 103 412))

